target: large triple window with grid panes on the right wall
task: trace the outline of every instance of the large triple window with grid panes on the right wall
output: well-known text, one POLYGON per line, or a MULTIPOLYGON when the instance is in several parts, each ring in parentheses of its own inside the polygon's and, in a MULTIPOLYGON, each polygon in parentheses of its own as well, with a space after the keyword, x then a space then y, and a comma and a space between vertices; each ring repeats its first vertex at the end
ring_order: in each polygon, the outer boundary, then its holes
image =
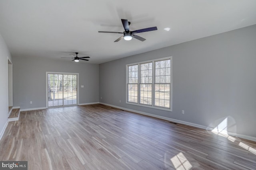
POLYGON ((172 57, 126 65, 126 103, 172 110, 172 57))

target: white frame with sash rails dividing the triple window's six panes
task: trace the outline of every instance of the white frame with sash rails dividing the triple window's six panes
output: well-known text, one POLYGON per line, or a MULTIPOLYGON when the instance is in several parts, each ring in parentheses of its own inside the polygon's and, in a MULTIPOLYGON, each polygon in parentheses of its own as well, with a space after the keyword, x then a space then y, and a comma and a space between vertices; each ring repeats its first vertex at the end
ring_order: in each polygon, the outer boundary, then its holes
MULTIPOLYGON (((146 83, 148 84, 148 83, 146 83)), ((163 84, 169 84, 169 83, 163 83, 163 84)), ((142 61, 142 62, 138 62, 138 63, 131 63, 131 64, 126 64, 126 104, 132 104, 132 105, 136 105, 136 106, 143 106, 143 107, 150 107, 153 109, 160 109, 160 110, 165 110, 165 111, 172 111, 172 56, 170 57, 163 57, 163 58, 159 58, 159 59, 153 59, 153 60, 148 60, 148 61, 142 61), (155 78, 156 78, 156 68, 155 68, 155 62, 158 61, 164 61, 164 60, 168 60, 170 59, 170 108, 166 108, 166 107, 161 107, 161 106, 155 106, 155 86, 156 84, 162 84, 162 83, 156 83, 155 78), (140 75, 141 75, 141 70, 140 70, 140 64, 146 64, 146 63, 152 63, 152 104, 151 105, 147 105, 147 104, 140 104, 140 85, 141 84, 145 84, 145 83, 141 83, 140 80, 140 75), (129 66, 133 66, 133 65, 138 65, 138 96, 137 96, 137 103, 134 102, 128 102, 128 86, 129 84, 134 84, 134 83, 129 83, 128 82, 128 67, 129 66)))

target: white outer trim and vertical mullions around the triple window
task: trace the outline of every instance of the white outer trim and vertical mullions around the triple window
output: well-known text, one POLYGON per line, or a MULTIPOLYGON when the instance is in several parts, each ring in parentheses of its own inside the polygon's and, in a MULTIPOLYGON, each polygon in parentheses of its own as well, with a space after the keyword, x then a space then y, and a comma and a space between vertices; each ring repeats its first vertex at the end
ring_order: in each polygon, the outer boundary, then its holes
MULTIPOLYGON (((148 60, 148 61, 142 61, 142 62, 138 62, 138 63, 131 63, 131 64, 126 64, 126 104, 131 104, 131 105, 136 105, 136 106, 142 106, 142 107, 149 107, 149 108, 152 108, 152 109, 160 109, 160 110, 166 110, 166 111, 172 111, 172 56, 170 57, 164 57, 164 58, 160 58, 160 59, 154 59, 154 60, 148 60), (159 107, 159 106, 154 106, 154 98, 155 98, 155 66, 154 66, 154 63, 153 63, 153 83, 152 83, 152 106, 150 105, 146 105, 146 104, 139 104, 139 100, 140 100, 140 67, 138 66, 138 104, 137 103, 133 103, 133 102, 128 102, 128 66, 132 66, 132 65, 136 65, 136 64, 144 64, 144 63, 150 63, 150 62, 155 62, 155 61, 162 61, 162 60, 167 60, 167 59, 170 59, 171 61, 171 82, 170 82, 170 109, 168 108, 164 108, 164 107, 159 107)), ((159 83, 156 83, 156 84, 159 84, 159 83)))

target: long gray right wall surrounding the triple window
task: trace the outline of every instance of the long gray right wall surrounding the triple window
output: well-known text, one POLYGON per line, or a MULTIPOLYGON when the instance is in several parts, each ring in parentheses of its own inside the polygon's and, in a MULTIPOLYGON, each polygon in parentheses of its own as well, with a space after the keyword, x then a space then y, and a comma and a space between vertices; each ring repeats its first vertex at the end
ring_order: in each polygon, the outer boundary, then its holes
POLYGON ((206 127, 228 117, 229 132, 256 137, 255 64, 252 25, 100 64, 100 102, 206 127), (172 112, 126 104, 125 65, 168 56, 173 61, 172 112))

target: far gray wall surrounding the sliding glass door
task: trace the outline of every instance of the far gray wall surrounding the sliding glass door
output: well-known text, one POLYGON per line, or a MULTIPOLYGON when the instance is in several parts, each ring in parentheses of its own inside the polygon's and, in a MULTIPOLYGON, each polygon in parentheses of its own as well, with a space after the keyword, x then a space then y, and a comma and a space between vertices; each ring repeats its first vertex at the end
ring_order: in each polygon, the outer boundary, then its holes
POLYGON ((84 85, 79 88, 79 103, 99 102, 98 64, 13 57, 14 106, 21 109, 46 107, 46 72, 79 73, 79 84, 84 85))

